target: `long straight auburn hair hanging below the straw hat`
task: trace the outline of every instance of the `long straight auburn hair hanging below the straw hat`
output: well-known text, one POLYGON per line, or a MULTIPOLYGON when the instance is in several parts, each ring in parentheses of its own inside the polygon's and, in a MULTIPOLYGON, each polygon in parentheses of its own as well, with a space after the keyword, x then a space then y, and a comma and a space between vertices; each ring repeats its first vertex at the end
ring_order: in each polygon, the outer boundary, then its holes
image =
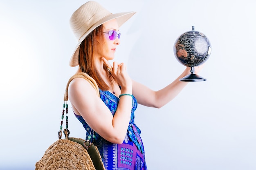
MULTIPOLYGON (((82 72, 90 75, 98 84, 99 88, 103 91, 107 91, 110 87, 103 81, 101 75, 95 67, 95 53, 97 50, 103 50, 105 39, 103 36, 103 25, 98 26, 94 29, 80 44, 79 49, 79 68, 82 72)), ((103 65, 104 70, 106 70, 108 79, 110 80, 111 86, 113 82, 117 82, 111 73, 107 70, 107 66, 103 65)))

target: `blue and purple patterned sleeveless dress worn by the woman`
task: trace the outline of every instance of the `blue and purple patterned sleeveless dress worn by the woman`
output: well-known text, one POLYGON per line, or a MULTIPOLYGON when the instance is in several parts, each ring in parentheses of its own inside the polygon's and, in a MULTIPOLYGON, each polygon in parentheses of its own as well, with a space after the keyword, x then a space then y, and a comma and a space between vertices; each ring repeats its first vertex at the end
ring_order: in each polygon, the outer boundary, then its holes
MULTIPOLYGON (((115 115, 119 98, 109 91, 101 91, 101 100, 108 106, 112 115, 115 115)), ((98 147, 101 158, 106 170, 147 170, 145 161, 144 146, 141 141, 141 131, 134 123, 134 111, 137 108, 137 100, 132 97, 132 110, 130 124, 123 144, 113 144, 103 139, 96 132, 91 138, 98 147)), ((75 114, 76 115, 76 114, 75 114)), ((86 135, 89 136, 92 131, 82 116, 76 115, 76 118, 83 124, 86 135)))

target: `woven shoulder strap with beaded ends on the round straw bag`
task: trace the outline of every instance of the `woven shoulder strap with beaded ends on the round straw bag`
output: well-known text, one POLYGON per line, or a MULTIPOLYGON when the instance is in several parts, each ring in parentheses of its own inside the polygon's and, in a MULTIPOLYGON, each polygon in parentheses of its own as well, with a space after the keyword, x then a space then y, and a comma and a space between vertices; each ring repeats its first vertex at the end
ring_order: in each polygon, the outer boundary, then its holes
POLYGON ((100 96, 99 95, 99 87, 98 87, 96 81, 92 77, 90 77, 87 73, 83 73, 83 72, 82 73, 77 73, 77 74, 73 75, 72 77, 70 77, 70 79, 67 82, 66 91, 65 91, 65 94, 64 94, 64 104, 63 104, 63 110, 62 110, 62 116, 61 116, 61 127, 60 127, 60 130, 58 131, 58 139, 61 139, 61 137, 62 137, 62 124, 63 124, 65 110, 66 110, 66 128, 63 130, 63 132, 65 134, 66 139, 68 139, 68 136, 70 134, 70 131, 68 130, 68 121, 67 121, 67 119, 68 119, 68 117, 67 117, 67 113, 68 113, 67 90, 68 90, 68 86, 69 86, 70 82, 74 78, 86 79, 92 85, 92 87, 96 90, 97 95, 100 96))

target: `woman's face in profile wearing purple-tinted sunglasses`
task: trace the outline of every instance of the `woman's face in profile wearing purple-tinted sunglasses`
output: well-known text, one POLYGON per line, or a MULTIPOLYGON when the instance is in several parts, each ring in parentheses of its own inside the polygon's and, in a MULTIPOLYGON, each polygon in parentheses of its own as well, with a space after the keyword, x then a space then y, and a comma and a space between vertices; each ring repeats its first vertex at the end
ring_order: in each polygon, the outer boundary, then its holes
POLYGON ((110 39, 113 39, 114 34, 116 34, 115 32, 117 32, 117 34, 118 34, 118 31, 119 31, 119 27, 118 27, 116 19, 110 20, 103 24, 103 32, 104 32, 103 34, 104 34, 104 40, 105 40, 106 46, 103 47, 102 55, 107 60, 114 59, 117 45, 120 44, 120 40, 118 37, 116 37, 115 40, 110 40, 110 39), (109 34, 109 32, 110 32, 110 34, 109 34), (112 35, 111 35, 111 33, 112 33, 112 35))

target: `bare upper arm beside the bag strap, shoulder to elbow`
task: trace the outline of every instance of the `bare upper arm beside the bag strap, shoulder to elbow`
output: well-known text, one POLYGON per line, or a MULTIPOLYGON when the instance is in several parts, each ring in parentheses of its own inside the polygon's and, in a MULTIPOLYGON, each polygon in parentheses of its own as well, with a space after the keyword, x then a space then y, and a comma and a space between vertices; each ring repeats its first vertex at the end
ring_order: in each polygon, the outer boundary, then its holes
POLYGON ((75 78, 70 82, 68 96, 72 108, 77 115, 81 115, 86 123, 101 137, 112 137, 113 115, 108 107, 98 97, 95 89, 85 79, 75 78))

